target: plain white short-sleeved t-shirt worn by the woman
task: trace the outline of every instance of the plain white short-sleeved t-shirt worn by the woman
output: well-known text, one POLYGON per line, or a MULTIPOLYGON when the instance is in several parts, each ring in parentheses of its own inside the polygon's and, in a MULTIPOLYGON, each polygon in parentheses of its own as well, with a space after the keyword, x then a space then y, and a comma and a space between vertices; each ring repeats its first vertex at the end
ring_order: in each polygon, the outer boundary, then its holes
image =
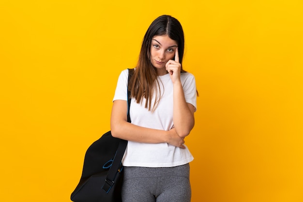
MULTIPOLYGON (((170 130, 173 123, 173 84, 169 74, 158 76, 161 87, 161 100, 157 108, 152 112, 145 108, 145 99, 142 104, 136 103, 133 98, 130 106, 132 124, 137 126, 170 130), (163 84, 163 85, 162 85, 163 84)), ((181 82, 185 101, 197 108, 196 81, 193 74, 181 73, 181 82)), ((127 101, 128 70, 121 72, 113 101, 127 101)), ((152 99, 154 101, 154 97, 152 99)), ((189 163, 194 158, 185 145, 185 149, 167 144, 147 144, 128 141, 127 148, 122 159, 123 166, 138 167, 174 167, 189 163)))

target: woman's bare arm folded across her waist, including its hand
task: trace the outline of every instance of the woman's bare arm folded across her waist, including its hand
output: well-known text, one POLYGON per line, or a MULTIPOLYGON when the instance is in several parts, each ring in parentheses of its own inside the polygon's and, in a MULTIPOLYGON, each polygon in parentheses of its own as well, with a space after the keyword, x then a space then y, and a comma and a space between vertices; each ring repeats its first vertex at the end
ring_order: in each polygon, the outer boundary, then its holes
POLYGON ((175 129, 156 130, 136 126, 127 122, 127 101, 115 100, 111 111, 110 128, 113 137, 139 143, 168 143, 180 148, 184 138, 180 137, 175 129))

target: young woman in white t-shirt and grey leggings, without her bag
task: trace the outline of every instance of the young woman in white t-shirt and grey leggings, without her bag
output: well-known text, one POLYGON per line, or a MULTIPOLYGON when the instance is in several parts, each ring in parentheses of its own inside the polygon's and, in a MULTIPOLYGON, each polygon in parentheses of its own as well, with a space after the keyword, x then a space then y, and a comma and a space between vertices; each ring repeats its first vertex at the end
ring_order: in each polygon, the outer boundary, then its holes
POLYGON ((147 30, 130 80, 132 123, 127 122, 128 71, 121 72, 113 99, 111 132, 128 140, 122 164, 123 202, 190 202, 184 138, 194 127, 195 77, 182 69, 184 34, 169 15, 147 30))

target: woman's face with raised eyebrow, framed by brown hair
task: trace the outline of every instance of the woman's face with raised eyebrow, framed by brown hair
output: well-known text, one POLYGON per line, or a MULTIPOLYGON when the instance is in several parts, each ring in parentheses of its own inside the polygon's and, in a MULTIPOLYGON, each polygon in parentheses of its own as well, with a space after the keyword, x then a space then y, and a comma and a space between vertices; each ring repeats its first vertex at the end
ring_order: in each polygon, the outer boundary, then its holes
POLYGON ((156 35, 152 38, 151 62, 157 69, 158 75, 164 75, 167 73, 165 65, 168 60, 175 57, 177 47, 177 42, 169 38, 167 35, 156 35))

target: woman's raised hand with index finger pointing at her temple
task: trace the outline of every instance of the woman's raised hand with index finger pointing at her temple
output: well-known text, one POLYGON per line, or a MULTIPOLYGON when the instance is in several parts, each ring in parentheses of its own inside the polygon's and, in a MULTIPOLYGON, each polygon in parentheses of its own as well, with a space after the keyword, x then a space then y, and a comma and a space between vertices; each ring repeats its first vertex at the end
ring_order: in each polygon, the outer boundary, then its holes
POLYGON ((167 72, 170 75, 172 83, 180 81, 181 64, 179 63, 179 52, 178 48, 175 50, 175 60, 168 60, 165 65, 167 72))

